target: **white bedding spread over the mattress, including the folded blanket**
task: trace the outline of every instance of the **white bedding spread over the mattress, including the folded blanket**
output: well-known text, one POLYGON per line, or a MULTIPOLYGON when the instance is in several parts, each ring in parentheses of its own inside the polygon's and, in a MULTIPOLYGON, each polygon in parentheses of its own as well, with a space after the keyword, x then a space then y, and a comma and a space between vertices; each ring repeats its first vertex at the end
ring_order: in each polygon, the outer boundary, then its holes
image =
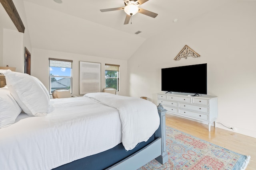
MULTIPOLYGON (((107 96, 102 102, 112 101, 111 107, 88 97, 77 97, 51 100, 49 113, 43 117, 29 117, 21 113, 16 123, 0 129, 0 169, 50 170, 115 147, 122 138, 124 143, 127 141, 126 149, 129 150, 137 141, 146 141, 157 129, 159 117, 154 104, 152 110, 156 116, 148 108, 144 108, 143 113, 139 112, 143 110, 138 106, 140 102, 144 105, 142 99, 137 104, 128 100, 133 106, 125 109, 126 104, 118 106, 119 102, 107 96), (149 121, 148 117, 152 115, 154 120, 149 121), (152 131, 148 132, 149 129, 152 131)), ((118 100, 125 100, 119 97, 118 100)), ((97 100, 100 101, 99 98, 97 100)))

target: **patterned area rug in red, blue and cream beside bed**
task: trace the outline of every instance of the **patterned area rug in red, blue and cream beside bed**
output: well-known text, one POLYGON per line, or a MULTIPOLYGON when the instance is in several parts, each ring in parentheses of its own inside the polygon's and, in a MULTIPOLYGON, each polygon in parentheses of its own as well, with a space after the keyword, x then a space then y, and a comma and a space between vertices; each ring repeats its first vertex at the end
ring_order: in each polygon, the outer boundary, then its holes
POLYGON ((244 170, 250 156, 238 154, 166 126, 169 160, 156 160, 138 170, 244 170))

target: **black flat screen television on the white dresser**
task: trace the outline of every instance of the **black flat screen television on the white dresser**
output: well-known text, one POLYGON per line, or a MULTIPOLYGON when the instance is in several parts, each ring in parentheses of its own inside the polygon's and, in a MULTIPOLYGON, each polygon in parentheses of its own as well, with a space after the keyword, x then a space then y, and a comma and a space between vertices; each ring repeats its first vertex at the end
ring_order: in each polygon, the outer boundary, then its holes
POLYGON ((207 94, 207 64, 162 68, 162 91, 207 94))

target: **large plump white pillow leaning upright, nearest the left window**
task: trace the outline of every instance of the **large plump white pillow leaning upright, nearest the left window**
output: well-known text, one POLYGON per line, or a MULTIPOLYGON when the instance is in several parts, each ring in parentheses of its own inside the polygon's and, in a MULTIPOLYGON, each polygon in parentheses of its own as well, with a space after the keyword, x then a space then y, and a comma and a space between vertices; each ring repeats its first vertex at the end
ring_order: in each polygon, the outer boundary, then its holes
POLYGON ((36 77, 29 74, 2 72, 6 77, 6 84, 10 94, 28 115, 44 116, 47 113, 50 95, 46 87, 36 77))

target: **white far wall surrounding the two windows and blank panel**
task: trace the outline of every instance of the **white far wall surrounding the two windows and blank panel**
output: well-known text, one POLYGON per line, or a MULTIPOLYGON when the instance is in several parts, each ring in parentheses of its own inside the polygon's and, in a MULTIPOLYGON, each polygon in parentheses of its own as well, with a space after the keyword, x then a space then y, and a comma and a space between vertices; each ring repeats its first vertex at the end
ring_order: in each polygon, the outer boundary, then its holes
POLYGON ((127 61, 107 59, 74 53, 64 53, 32 48, 31 75, 42 81, 49 90, 49 58, 73 60, 73 95, 79 95, 79 61, 101 63, 101 89, 105 88, 105 64, 120 65, 120 91, 118 95, 127 96, 127 61))

